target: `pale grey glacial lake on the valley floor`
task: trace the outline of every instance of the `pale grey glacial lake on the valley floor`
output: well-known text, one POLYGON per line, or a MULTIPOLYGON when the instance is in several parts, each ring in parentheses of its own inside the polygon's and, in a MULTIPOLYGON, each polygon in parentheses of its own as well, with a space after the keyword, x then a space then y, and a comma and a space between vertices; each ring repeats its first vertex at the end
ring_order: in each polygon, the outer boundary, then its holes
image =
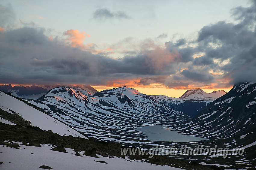
POLYGON ((138 128, 138 130, 143 132, 150 141, 189 142, 208 140, 206 138, 183 135, 175 129, 170 129, 161 125, 143 126, 138 128))

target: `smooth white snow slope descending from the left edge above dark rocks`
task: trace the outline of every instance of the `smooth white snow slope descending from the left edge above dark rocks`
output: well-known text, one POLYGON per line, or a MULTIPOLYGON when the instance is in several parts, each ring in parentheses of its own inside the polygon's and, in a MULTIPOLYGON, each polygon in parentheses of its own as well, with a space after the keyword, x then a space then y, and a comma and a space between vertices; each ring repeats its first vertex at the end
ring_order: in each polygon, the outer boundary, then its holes
MULTIPOLYGON (((24 120, 30 121, 31 125, 38 126, 43 130, 52 130, 54 133, 59 135, 72 135, 74 137, 79 136, 86 138, 84 135, 80 134, 76 130, 70 128, 64 123, 54 119, 53 117, 27 105, 23 101, 20 101, 12 96, 7 95, 0 91, 0 109, 8 112, 12 115, 19 115, 24 120)), ((3 123, 11 123, 8 120, 2 118, 0 114, 0 121, 3 123)), ((14 117, 14 116, 13 116, 14 117)))

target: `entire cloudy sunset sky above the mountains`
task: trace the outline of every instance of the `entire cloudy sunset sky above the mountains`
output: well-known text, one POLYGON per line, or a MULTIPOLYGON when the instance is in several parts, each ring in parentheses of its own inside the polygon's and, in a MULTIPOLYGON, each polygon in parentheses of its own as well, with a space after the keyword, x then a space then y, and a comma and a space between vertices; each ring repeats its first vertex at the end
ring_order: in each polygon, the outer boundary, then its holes
POLYGON ((0 84, 148 95, 256 81, 256 1, 0 2, 0 84))

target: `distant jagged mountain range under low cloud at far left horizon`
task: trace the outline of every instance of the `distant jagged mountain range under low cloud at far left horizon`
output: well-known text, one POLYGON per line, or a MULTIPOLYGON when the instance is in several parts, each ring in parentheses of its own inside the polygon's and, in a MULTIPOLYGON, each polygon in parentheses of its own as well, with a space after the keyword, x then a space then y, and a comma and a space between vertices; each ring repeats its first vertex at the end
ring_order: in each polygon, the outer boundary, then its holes
MULTIPOLYGON (((24 99, 38 99, 39 97, 43 96, 49 90, 62 87, 62 85, 45 85, 45 86, 14 86, 12 87, 11 84, 9 85, 1 85, 0 90, 6 93, 11 93, 11 95, 24 98, 24 99)), ((67 86, 73 88, 84 95, 93 95, 98 91, 92 88, 91 86, 87 85, 75 85, 75 86, 67 86)))

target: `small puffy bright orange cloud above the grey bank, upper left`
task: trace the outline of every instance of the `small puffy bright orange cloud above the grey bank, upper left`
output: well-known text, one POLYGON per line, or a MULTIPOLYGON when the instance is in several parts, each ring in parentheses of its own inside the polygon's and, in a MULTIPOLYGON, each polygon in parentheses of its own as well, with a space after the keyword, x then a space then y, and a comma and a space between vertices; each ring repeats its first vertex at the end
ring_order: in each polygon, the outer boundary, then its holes
POLYGON ((70 29, 63 33, 67 35, 66 41, 71 42, 71 47, 83 47, 83 40, 91 35, 86 32, 79 32, 77 29, 70 29))

